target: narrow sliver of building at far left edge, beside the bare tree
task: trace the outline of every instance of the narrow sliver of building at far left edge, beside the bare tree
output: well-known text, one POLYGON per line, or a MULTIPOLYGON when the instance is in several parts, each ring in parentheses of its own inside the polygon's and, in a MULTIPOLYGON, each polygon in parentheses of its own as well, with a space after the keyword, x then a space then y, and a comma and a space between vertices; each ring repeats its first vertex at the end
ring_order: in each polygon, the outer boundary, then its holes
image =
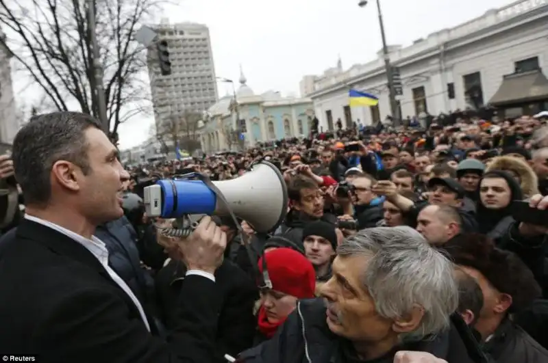
MULTIPOLYGON (((1 29, 0 37, 5 37, 1 29)), ((11 52, 0 45, 0 142, 10 145, 20 126, 12 85, 11 58, 11 52)))

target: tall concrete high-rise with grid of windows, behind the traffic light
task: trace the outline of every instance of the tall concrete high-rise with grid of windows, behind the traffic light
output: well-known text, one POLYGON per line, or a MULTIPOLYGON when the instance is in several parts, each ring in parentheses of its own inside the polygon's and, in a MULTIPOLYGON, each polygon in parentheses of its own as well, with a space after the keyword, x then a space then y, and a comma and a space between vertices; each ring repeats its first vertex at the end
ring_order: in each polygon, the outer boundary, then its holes
POLYGON ((153 26, 158 41, 166 40, 171 61, 171 75, 162 76, 158 53, 151 46, 148 68, 155 118, 166 120, 185 111, 206 111, 217 100, 215 68, 206 25, 170 24, 164 19, 153 26))

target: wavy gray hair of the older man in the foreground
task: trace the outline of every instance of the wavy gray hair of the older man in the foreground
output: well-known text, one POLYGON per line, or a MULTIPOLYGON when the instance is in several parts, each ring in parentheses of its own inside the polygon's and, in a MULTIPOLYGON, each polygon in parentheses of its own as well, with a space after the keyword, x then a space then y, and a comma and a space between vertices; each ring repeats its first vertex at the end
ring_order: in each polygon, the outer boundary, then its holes
POLYGON ((416 230, 405 226, 361 230, 346 239, 337 254, 371 256, 362 281, 382 317, 397 319, 416 306, 424 309, 419 327, 401 334, 400 340, 421 340, 449 327, 449 316, 458 306, 453 263, 416 230))

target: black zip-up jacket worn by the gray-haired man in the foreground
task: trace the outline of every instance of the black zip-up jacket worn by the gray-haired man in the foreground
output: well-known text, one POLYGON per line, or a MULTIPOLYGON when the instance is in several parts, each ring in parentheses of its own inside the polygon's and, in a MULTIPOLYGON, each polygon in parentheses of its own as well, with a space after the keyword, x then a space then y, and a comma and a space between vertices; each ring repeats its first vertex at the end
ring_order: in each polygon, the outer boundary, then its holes
MULTIPOLYGON (((323 301, 302 300, 271 340, 243 352, 238 357, 238 362, 341 363, 341 341, 343 340, 333 334, 327 326, 323 301)), ((455 325, 432 341, 419 342, 406 349, 427 351, 447 360, 448 363, 477 362, 469 357, 455 325)))

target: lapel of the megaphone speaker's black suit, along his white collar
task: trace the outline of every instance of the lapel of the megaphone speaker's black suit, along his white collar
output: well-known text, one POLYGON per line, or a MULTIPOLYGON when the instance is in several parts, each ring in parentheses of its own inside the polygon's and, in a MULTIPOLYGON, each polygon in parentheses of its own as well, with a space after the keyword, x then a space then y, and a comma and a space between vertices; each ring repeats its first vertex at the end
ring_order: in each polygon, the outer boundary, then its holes
POLYGON ((132 314, 135 314, 137 317, 140 317, 139 310, 135 305, 134 301, 123 291, 119 284, 117 284, 108 272, 105 270, 103 265, 99 262, 97 257, 86 249, 83 245, 71 239, 71 237, 54 230, 43 224, 36 223, 29 219, 23 219, 21 224, 17 227, 16 238, 20 239, 29 239, 45 245, 49 250, 60 254, 62 256, 69 256, 73 260, 77 260, 79 263, 90 267, 91 269, 97 271, 101 277, 103 277, 110 285, 116 288, 118 295, 125 301, 129 310, 132 314))

